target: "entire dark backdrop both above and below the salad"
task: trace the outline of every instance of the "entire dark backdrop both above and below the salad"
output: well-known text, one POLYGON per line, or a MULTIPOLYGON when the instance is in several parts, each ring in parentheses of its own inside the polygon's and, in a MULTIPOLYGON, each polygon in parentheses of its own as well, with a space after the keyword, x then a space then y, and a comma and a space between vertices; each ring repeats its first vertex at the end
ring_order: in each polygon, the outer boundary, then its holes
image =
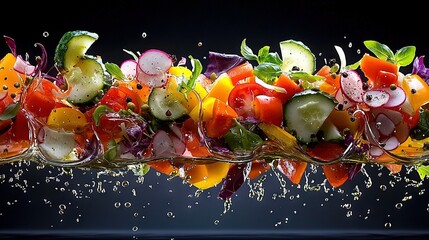
MULTIPOLYGON (((20 54, 36 56, 40 49, 34 43, 42 43, 50 65, 62 34, 77 29, 99 35, 89 54, 118 64, 129 58, 123 49, 149 48, 193 55, 204 63, 208 51, 239 54, 244 38, 254 51, 265 45, 279 51, 280 41, 301 40, 316 54, 318 66, 337 57, 334 45, 344 49, 350 63, 356 61, 369 39, 393 51, 414 45, 417 55, 429 53, 427 13, 419 1, 31 1, 2 3, 2 12, 0 34, 14 38, 20 54)), ((0 53, 8 51, 0 44, 0 53)), ((223 202, 216 198, 219 188, 196 197, 195 188, 154 171, 137 183, 131 173, 111 177, 76 170, 69 176, 50 167, 37 170, 35 164, 5 164, 0 166, 0 238, 429 236, 427 183, 411 187, 413 181, 405 178, 418 180, 415 172, 402 172, 399 179, 384 168, 365 169, 372 182, 359 174, 341 189, 327 186, 327 193, 323 186, 307 190, 304 178, 300 186, 286 180, 290 192, 285 198, 279 197, 280 183, 269 172, 261 201, 249 197, 249 186, 243 186, 231 211, 223 213, 223 202)), ((310 185, 323 182, 320 170, 308 174, 310 185)))

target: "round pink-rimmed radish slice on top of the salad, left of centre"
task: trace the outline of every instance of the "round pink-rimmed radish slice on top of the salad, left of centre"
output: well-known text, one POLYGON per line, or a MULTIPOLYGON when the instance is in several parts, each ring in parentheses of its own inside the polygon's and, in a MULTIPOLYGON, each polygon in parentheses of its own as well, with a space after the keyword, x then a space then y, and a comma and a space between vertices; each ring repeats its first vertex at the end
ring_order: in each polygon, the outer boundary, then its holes
POLYGON ((172 64, 170 55, 157 49, 145 51, 138 59, 138 68, 148 75, 164 74, 172 64))

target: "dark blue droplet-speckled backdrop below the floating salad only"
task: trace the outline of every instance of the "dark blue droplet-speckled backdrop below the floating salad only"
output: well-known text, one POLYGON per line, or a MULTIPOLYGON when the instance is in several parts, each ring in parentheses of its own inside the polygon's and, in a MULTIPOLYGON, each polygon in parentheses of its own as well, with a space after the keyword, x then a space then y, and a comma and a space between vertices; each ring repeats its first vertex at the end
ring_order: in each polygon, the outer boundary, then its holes
POLYGON ((426 182, 414 171, 364 171, 332 188, 312 166, 301 184, 275 171, 248 181, 229 209, 218 187, 197 191, 150 170, 98 172, 3 165, 0 234, 73 238, 185 239, 198 236, 310 238, 428 234, 426 182))

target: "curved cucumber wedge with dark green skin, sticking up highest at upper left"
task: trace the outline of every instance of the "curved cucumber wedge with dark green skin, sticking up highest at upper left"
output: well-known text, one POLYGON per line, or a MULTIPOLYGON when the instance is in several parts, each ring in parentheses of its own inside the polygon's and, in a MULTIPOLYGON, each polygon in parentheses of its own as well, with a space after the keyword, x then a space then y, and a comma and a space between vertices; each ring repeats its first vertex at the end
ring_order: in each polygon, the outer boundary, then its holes
POLYGON ((88 48, 98 39, 96 33, 69 31, 60 39, 54 54, 55 65, 60 71, 68 71, 85 56, 88 48))

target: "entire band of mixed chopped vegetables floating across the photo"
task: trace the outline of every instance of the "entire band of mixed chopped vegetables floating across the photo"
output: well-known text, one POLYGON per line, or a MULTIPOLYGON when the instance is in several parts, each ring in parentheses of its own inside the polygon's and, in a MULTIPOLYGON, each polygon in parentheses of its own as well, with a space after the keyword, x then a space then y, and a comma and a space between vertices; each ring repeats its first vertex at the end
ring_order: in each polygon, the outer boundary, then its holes
POLYGON ((47 71, 42 44, 32 60, 4 39, 1 163, 154 169, 202 190, 221 184, 224 200, 270 169, 299 184, 308 164, 333 187, 364 164, 429 174, 429 69, 414 46, 368 40, 349 65, 335 46, 338 59, 316 66, 301 41, 277 53, 244 39, 240 54, 209 52, 207 66, 159 49, 111 63, 87 54, 98 34, 75 30, 47 71))

